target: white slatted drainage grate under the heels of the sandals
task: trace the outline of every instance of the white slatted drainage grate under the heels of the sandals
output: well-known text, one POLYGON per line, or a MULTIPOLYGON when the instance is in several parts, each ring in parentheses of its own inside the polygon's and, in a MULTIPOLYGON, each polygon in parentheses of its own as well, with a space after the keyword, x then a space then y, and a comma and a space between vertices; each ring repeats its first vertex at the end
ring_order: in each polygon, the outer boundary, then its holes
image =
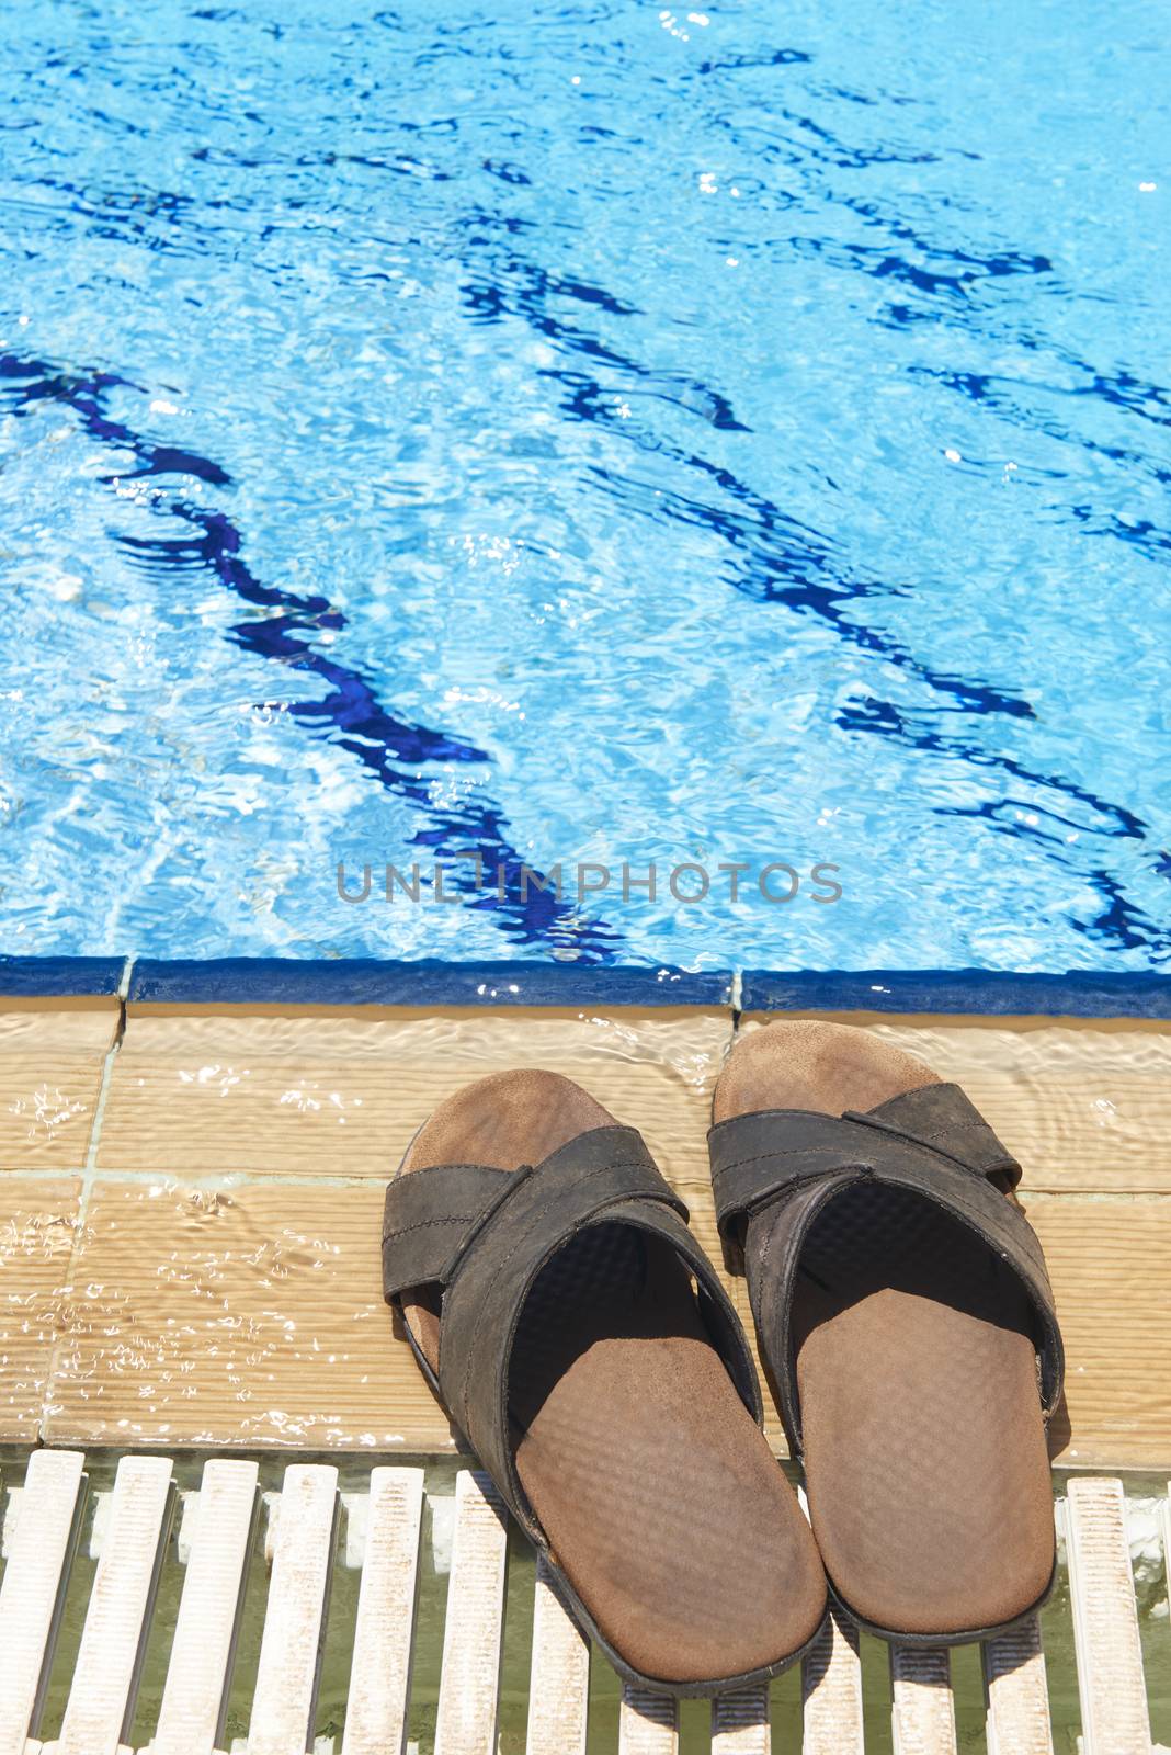
MULTIPOLYGON (((12 1488, 0 1580, 0 1755, 130 1755, 135 1697, 153 1632, 160 1572, 174 1525, 175 1464, 123 1457, 95 1518, 96 1571, 77 1555, 86 1501, 84 1457, 33 1451, 12 1488), (84 1592, 84 1601, 77 1601, 84 1592), (68 1615, 81 1618, 60 1734, 35 1741, 46 1711, 54 1646, 68 1615)), ((403 1755, 415 1646, 419 1467, 373 1469, 338 1495, 338 1469, 293 1464, 270 1499, 272 1574, 254 1662, 247 1737, 224 1746, 233 1665, 249 1574, 263 1567, 256 1462, 203 1465, 177 1530, 182 1588, 174 1609, 151 1755, 403 1755), (330 1622, 342 1497, 342 1562, 361 1569, 347 1623, 349 1694, 340 1737, 314 1743, 317 1687, 330 1622)), ((2 1501, 0 1501, 2 1502, 2 1501)), ((436 1502, 436 1504, 442 1504, 436 1502)), ((451 1572, 433 1730, 435 1755, 496 1755, 507 1523, 494 1490, 465 1469, 449 1501, 451 1572)), ((1171 1529, 1171 1518, 1164 1518, 1171 1529)), ((1139 1627, 1118 1481, 1080 1478, 1059 1506, 1066 1532, 1085 1755, 1150 1755, 1139 1627)), ((436 1518, 436 1536, 447 1537, 436 1518)), ((1050 1709, 1036 1622, 982 1653, 989 1755, 1052 1755, 1050 1709)), ((543 1567, 536 1569, 528 1671, 528 1755, 584 1755, 589 1650, 543 1567)), ((862 1662, 854 1627, 833 1620, 801 1671, 805 1755, 862 1755, 862 1662)), ((764 1688, 712 1706, 713 1755, 770 1755, 764 1688)), ((954 1755, 950 1655, 891 1651, 896 1755, 954 1755)), ((694 1725, 692 1725, 694 1730, 694 1725)), ((680 1715, 671 1701, 626 1690, 619 1755, 675 1755, 680 1715)), ((591 1748, 598 1737, 591 1736, 591 1748)))

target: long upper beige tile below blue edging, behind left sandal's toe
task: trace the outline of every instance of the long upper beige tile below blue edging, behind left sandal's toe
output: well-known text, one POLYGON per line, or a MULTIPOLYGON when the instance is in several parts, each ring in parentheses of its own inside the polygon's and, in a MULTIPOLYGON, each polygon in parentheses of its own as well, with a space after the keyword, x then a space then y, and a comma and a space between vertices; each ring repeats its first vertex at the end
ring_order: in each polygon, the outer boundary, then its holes
POLYGON ((503 1067, 587 1085, 636 1121, 664 1169, 703 1164, 727 1013, 440 1011, 391 1014, 130 1009, 98 1169, 377 1176, 431 1109, 503 1067))

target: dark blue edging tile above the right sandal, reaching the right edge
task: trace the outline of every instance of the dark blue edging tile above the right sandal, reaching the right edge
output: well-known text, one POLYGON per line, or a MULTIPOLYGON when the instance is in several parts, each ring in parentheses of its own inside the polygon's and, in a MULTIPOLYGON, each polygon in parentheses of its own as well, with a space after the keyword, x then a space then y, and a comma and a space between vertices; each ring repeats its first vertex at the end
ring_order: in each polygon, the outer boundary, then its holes
POLYGON ((747 969, 742 1011, 901 1011, 976 1016, 1167 1018, 1171 976, 1011 974, 992 969, 747 969))

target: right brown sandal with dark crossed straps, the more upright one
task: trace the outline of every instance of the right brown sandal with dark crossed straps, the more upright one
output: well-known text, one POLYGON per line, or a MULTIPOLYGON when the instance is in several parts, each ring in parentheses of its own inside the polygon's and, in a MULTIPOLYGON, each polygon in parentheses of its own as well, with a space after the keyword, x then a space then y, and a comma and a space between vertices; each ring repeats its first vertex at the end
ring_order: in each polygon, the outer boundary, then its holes
POLYGON ((834 1595, 922 1644, 1033 1615, 1062 1346, 1020 1165, 955 1085, 848 1025, 745 1035, 713 1123, 724 1257, 834 1595))

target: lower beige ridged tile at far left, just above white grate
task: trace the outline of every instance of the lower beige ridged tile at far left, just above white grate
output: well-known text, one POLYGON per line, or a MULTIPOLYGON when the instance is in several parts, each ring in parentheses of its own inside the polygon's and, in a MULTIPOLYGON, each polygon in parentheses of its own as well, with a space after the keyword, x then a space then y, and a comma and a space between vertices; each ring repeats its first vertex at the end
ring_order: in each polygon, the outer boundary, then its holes
POLYGON ((37 1437, 79 1181, 0 1174, 0 1439, 37 1437))

